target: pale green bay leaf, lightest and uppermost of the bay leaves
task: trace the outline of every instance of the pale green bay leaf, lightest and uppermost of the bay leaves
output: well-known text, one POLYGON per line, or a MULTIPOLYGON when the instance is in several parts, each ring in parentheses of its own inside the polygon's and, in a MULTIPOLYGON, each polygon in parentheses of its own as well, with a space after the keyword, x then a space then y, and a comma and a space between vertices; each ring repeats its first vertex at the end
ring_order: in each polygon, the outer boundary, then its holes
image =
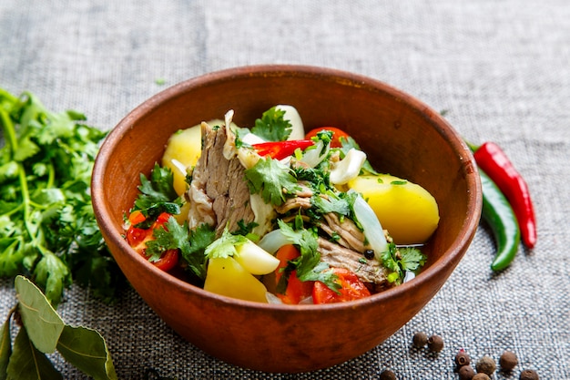
POLYGON ((30 341, 42 353, 53 353, 64 329, 64 321, 46 296, 24 276, 16 276, 15 291, 19 301, 18 312, 30 341))

